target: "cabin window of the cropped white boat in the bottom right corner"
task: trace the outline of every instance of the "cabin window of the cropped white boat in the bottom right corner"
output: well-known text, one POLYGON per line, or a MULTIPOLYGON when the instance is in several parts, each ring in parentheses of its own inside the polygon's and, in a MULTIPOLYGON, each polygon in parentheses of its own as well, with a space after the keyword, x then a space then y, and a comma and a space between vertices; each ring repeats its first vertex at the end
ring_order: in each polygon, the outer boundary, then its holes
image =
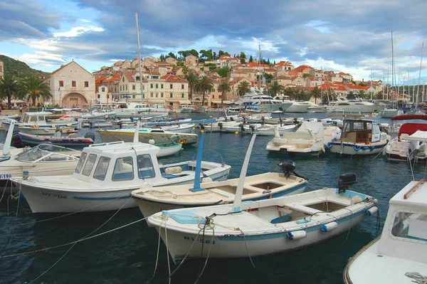
POLYGON ((402 241, 427 242, 427 213, 397 211, 394 214, 391 235, 402 241))

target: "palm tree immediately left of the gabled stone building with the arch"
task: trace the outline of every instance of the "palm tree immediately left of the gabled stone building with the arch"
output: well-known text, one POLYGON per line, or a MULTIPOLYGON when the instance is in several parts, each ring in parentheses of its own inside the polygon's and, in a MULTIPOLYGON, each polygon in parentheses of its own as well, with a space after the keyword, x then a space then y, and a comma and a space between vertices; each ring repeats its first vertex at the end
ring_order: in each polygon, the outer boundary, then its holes
POLYGON ((20 82, 20 88, 26 100, 32 100, 33 105, 36 105, 38 98, 43 98, 43 100, 52 98, 51 86, 34 74, 26 75, 20 82))

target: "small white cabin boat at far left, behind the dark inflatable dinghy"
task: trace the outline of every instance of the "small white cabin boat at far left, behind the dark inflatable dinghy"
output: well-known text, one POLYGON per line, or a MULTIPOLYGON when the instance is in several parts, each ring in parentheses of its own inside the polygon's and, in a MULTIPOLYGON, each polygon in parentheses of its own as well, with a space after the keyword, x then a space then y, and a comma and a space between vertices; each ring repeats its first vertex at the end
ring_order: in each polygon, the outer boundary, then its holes
MULTIPOLYGON (((57 127, 64 133, 74 132, 75 129, 78 129, 78 122, 47 122, 46 117, 52 114, 52 112, 24 112, 21 117, 21 122, 15 123, 14 131, 21 131, 31 135, 43 135, 43 133, 38 131, 46 129, 53 135, 57 127), (41 130, 36 131, 38 128, 41 130)), ((3 120, 2 125, 4 130, 8 131, 11 120, 3 120)))

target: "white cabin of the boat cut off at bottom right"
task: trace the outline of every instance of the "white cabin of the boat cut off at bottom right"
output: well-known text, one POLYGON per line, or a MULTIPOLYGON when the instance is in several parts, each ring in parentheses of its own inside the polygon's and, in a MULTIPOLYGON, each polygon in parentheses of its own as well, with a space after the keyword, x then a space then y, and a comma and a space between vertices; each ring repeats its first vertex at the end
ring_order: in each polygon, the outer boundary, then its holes
POLYGON ((410 182, 390 199, 378 254, 427 263, 427 183, 410 182))

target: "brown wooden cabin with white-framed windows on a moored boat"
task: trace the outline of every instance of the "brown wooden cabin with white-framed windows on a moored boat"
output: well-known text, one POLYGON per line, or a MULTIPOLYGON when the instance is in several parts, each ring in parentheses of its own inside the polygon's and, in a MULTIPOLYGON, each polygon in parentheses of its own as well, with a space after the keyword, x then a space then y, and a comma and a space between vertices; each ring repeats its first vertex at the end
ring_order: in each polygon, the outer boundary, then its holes
POLYGON ((379 142, 381 130, 379 130, 378 122, 371 120, 344 120, 341 140, 364 144, 379 142))

